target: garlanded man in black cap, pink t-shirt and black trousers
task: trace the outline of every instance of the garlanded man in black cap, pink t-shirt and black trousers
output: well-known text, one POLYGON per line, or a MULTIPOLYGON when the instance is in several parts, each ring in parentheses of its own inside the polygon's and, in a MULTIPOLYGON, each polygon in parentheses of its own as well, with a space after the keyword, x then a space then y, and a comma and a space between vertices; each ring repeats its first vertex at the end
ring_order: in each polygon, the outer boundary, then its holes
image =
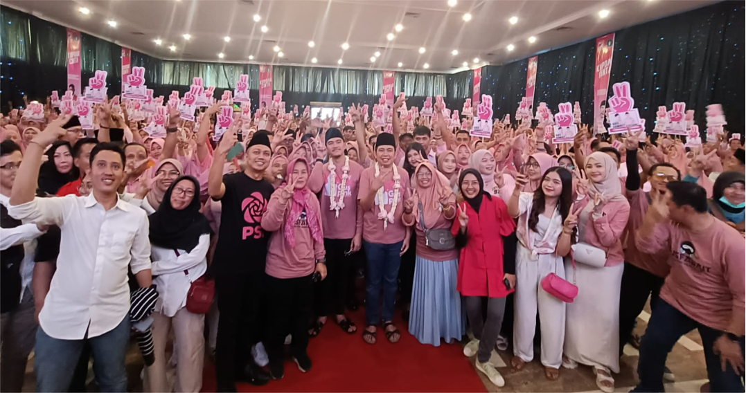
POLYGON ((350 256, 360 250, 363 239, 363 212, 357 206, 363 167, 345 156, 345 139, 339 129, 327 130, 325 145, 329 162, 314 166, 308 179, 308 188, 315 194, 321 192, 328 274, 326 280, 316 283, 316 316, 319 319, 313 325, 311 337, 319 334, 330 308, 342 330, 350 334, 357 330, 345 317, 345 298, 353 265, 350 256))

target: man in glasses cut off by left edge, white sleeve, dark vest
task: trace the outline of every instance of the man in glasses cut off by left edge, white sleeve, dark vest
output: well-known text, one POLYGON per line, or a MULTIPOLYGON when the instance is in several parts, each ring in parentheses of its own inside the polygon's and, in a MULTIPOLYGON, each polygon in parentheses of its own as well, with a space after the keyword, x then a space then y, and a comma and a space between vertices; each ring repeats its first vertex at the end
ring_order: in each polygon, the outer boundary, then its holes
POLYGON ((43 232, 37 224, 22 224, 7 213, 10 190, 23 159, 21 148, 10 139, 0 143, 0 392, 20 392, 28 354, 34 349, 37 321, 31 271, 34 239, 43 232))

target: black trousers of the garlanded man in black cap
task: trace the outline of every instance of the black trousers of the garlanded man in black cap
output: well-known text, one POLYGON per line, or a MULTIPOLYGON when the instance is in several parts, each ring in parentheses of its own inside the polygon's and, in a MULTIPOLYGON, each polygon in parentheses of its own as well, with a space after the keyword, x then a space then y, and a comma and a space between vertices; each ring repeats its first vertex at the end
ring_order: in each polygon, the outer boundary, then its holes
POLYGON ((351 244, 352 239, 324 239, 327 277, 314 285, 314 311, 318 317, 325 317, 330 312, 335 315, 345 313, 353 262, 345 253, 350 251, 351 244))

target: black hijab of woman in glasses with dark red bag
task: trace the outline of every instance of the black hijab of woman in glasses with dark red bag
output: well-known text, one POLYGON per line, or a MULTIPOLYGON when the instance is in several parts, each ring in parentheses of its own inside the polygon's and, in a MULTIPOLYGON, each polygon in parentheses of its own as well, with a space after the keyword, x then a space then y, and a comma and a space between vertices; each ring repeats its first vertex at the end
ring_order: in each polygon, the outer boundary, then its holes
POLYGON ((150 215, 150 242, 153 245, 174 250, 192 251, 198 243, 199 236, 212 233, 210 223, 199 211, 199 182, 191 176, 181 176, 163 195, 158 210, 150 215), (181 180, 194 183, 195 195, 184 210, 175 210, 171 206, 171 193, 181 180))

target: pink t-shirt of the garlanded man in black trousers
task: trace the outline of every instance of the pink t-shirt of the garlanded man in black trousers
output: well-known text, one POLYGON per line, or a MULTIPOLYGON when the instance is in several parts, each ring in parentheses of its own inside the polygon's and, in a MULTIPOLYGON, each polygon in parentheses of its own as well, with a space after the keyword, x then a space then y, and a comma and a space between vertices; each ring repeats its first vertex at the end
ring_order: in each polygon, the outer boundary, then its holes
MULTIPOLYGON (((342 165, 336 167, 336 195, 335 201, 339 201, 342 194, 342 165)), ((357 208, 357 192, 360 189, 360 175, 363 174, 363 166, 350 161, 348 179, 345 183, 344 209, 330 210, 331 172, 329 163, 316 165, 308 178, 308 188, 314 194, 321 192, 322 224, 324 226, 324 237, 326 239, 352 239, 358 233, 363 232, 363 211, 357 208)))

